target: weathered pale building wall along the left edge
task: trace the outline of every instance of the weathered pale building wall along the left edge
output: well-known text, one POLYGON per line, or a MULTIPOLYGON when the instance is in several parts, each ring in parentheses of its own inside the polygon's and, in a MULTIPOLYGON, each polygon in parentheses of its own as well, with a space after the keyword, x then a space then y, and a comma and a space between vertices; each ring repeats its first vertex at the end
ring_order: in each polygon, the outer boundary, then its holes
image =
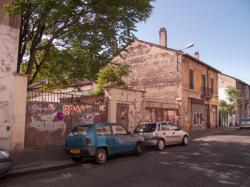
POLYGON ((24 147, 27 77, 16 74, 20 17, 8 16, 0 1, 0 147, 24 147))

